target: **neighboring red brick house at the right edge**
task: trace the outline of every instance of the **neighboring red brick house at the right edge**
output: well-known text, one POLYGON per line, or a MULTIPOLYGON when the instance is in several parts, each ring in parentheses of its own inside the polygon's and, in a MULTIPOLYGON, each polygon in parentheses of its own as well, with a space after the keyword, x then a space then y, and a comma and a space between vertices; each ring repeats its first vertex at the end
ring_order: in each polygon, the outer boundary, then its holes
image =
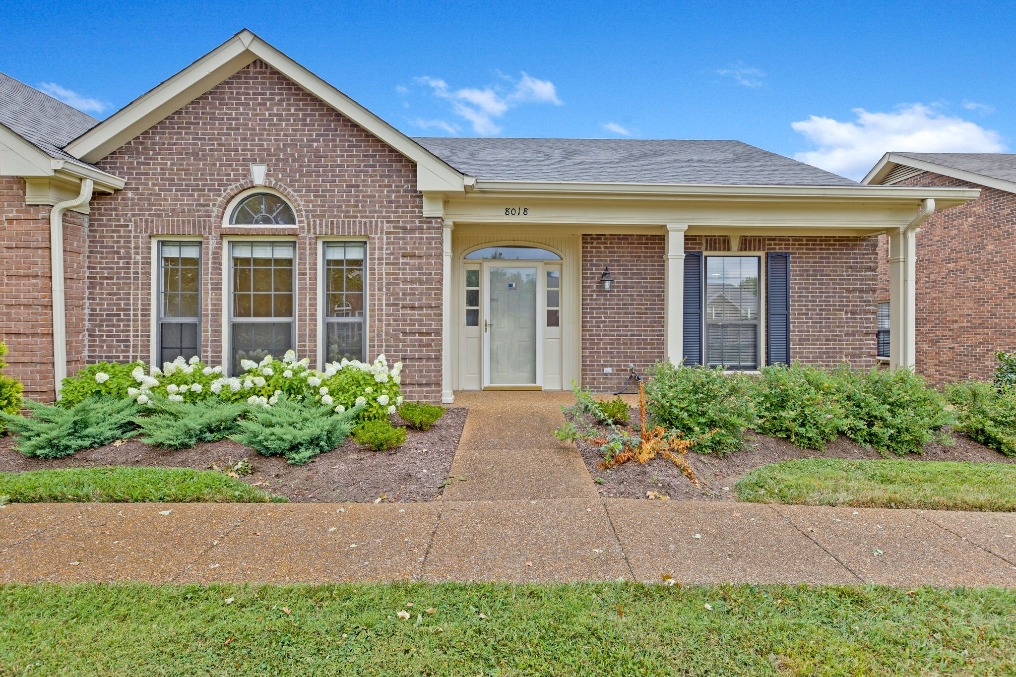
MULTIPOLYGON (((889 152, 862 183, 980 191, 920 227, 915 368, 938 385, 991 379, 995 353, 1016 350, 1016 154, 889 152)), ((880 241, 885 317, 891 307, 888 236, 880 241)))

